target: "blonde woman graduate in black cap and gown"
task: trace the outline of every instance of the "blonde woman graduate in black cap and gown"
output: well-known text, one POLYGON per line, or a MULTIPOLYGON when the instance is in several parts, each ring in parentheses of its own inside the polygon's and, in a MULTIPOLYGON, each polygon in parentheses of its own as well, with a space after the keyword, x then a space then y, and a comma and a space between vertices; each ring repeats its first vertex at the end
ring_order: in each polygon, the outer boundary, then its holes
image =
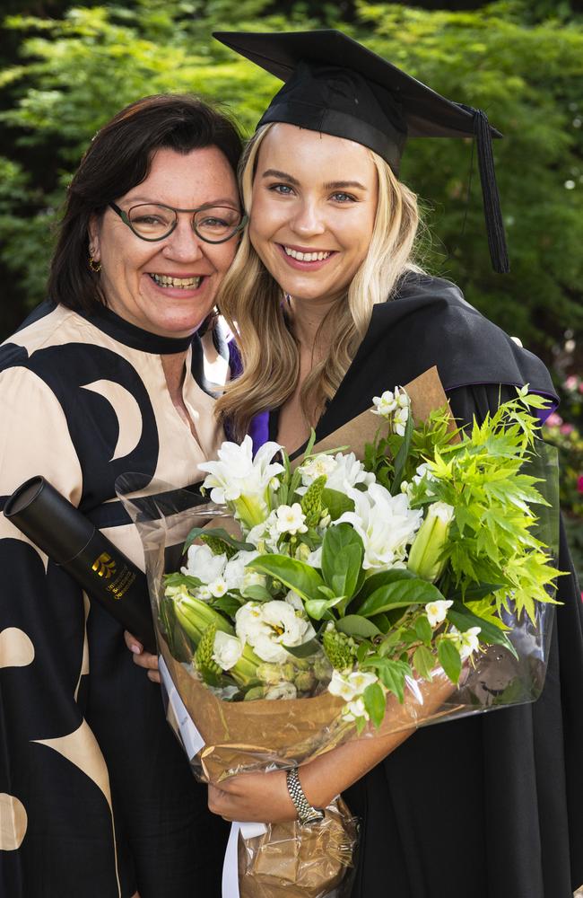
MULTIPOLYGON (((218 410, 259 445, 297 449, 431 365, 457 418, 483 418, 542 363, 415 264, 416 198, 397 177, 407 131, 479 136, 492 257, 506 268, 482 113, 457 106, 338 32, 226 34, 286 80, 242 169, 248 234, 222 287, 244 372, 218 410), (484 164, 485 161, 485 164, 484 164)), ((559 563, 572 570, 563 545, 559 563)), ((543 695, 405 735, 345 744, 300 769, 312 806, 347 791, 362 818, 356 898, 570 898, 583 882, 582 615, 561 578, 543 695), (352 788, 349 788, 351 787, 352 788), (431 797, 429 805, 427 797, 431 797)), ((284 772, 209 787, 231 820, 292 819, 284 772)))

